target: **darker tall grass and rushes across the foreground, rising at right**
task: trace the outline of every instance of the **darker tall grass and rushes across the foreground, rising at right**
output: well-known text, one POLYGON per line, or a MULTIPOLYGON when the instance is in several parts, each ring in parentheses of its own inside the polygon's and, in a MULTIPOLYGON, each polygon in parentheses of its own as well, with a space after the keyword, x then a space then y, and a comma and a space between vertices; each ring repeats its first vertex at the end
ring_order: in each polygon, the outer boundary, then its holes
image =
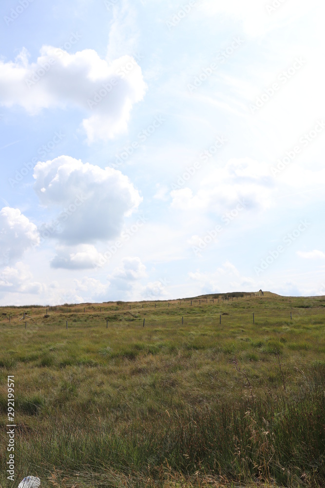
POLYGON ((96 486, 116 486, 107 484, 112 473, 142 480, 139 486, 148 486, 148 479, 150 486, 163 486, 171 472, 183 479, 209 473, 235 482, 325 486, 324 385, 322 366, 313 368, 295 394, 222 402, 181 414, 166 411, 147 419, 134 411, 126 425, 61 412, 39 419, 36 432, 21 433, 19 468, 41 470, 52 481, 54 467, 62 479, 64 473, 75 478, 85 470, 88 478, 101 473, 96 486))

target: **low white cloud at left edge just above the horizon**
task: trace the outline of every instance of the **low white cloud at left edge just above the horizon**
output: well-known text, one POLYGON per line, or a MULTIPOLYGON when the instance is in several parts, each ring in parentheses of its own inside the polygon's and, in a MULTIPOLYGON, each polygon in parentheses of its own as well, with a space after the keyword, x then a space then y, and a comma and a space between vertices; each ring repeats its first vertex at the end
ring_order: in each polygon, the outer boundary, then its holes
POLYGON ((19 262, 14 267, 6 266, 0 272, 0 291, 39 294, 43 291, 43 285, 33 282, 29 267, 19 262))

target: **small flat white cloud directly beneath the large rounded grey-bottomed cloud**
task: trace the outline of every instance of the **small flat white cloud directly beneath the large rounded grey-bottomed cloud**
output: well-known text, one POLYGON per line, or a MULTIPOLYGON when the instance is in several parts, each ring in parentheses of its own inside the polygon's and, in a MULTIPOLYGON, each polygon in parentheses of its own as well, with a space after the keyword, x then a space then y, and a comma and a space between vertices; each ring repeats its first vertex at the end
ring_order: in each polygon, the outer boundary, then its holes
POLYGON ((52 259, 53 268, 65 269, 94 269, 100 262, 102 255, 91 244, 78 246, 58 246, 57 255, 52 259))

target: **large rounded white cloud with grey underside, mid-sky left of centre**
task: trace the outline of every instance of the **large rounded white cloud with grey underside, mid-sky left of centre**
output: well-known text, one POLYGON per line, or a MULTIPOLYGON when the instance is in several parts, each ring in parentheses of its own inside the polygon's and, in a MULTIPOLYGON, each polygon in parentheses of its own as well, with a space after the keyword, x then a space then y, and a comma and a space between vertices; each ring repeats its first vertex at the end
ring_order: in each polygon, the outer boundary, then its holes
POLYGON ((50 235, 64 244, 89 244, 116 237, 123 218, 142 201, 120 171, 69 156, 37 163, 34 178, 41 204, 62 209, 50 235))

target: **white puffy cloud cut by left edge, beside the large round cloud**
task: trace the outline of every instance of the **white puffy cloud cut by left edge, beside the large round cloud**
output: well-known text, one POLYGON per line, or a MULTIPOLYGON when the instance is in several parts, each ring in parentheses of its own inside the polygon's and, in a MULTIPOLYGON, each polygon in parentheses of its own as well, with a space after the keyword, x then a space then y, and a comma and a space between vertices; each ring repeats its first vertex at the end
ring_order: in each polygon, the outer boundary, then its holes
POLYGON ((0 210, 0 262, 20 258, 32 245, 39 244, 38 230, 18 208, 0 210))

